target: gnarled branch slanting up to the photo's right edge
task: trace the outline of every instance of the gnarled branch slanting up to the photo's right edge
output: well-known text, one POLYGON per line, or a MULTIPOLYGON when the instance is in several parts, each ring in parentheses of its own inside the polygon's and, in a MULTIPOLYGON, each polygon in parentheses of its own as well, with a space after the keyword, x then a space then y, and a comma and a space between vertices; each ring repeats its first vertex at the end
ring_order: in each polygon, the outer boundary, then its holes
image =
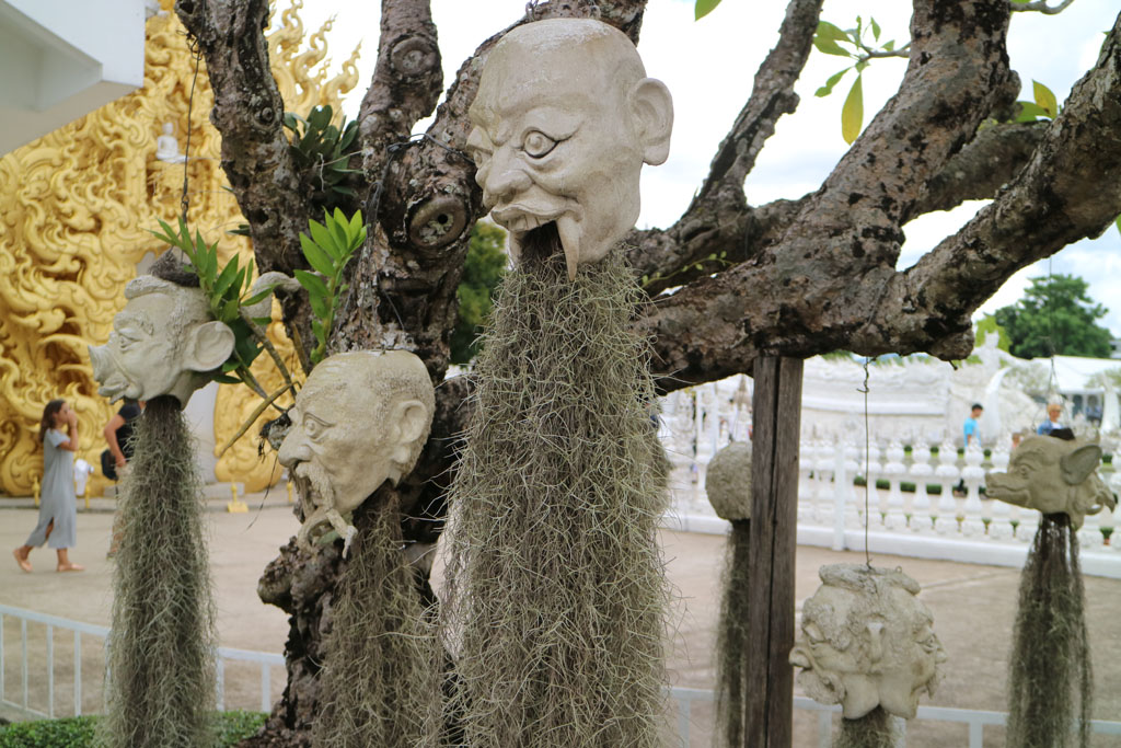
POLYGON ((1121 213, 1121 16, 1027 167, 956 234, 896 274, 858 341, 964 358, 970 314, 1013 273, 1121 213), (936 341, 934 345, 929 341, 936 341))

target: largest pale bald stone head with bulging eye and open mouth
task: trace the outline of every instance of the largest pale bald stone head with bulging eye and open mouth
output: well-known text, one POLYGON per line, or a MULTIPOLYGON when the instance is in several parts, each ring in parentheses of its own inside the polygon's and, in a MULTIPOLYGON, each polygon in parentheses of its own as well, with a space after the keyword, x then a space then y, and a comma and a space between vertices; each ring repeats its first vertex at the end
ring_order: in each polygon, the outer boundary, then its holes
POLYGON ((515 259, 527 233, 555 223, 573 278, 633 228, 639 174, 668 157, 674 108, 621 31, 549 19, 494 46, 470 117, 475 179, 515 259))

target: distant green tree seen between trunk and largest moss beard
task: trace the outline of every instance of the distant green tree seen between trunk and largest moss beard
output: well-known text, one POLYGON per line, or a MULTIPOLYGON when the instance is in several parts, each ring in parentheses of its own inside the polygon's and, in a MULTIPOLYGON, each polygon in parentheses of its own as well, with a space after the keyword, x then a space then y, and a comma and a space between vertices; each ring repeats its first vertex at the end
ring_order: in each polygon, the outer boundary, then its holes
POLYGON ((479 330, 491 311, 491 299, 506 275, 506 231, 493 223, 479 221, 471 229, 467 259, 456 295, 460 316, 452 331, 452 363, 464 364, 479 352, 479 330))

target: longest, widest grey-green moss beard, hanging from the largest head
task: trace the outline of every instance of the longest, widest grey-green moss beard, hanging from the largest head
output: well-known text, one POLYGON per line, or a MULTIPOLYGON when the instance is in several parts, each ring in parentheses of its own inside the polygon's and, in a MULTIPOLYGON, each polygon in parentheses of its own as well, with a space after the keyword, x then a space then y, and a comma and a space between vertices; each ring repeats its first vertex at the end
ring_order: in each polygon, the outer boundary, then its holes
POLYGON ((569 281, 554 224, 503 280, 451 489, 442 636, 465 745, 660 745, 668 463, 640 297, 619 248, 569 281))

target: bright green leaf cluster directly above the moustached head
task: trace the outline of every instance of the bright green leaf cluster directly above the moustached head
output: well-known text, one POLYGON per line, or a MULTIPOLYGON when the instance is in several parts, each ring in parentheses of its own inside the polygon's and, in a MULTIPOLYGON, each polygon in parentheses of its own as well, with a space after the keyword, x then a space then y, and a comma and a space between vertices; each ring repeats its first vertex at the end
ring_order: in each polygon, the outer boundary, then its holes
POLYGON ((335 313, 348 285, 343 283, 343 269, 350 258, 365 242, 365 225, 362 211, 348 219, 340 209, 334 213, 323 212, 323 223, 308 221, 308 231, 299 234, 299 246, 307 264, 314 273, 296 270, 296 280, 307 290, 312 305, 312 332, 316 347, 311 353, 312 363, 318 363, 326 355, 327 338, 335 323, 335 313))

